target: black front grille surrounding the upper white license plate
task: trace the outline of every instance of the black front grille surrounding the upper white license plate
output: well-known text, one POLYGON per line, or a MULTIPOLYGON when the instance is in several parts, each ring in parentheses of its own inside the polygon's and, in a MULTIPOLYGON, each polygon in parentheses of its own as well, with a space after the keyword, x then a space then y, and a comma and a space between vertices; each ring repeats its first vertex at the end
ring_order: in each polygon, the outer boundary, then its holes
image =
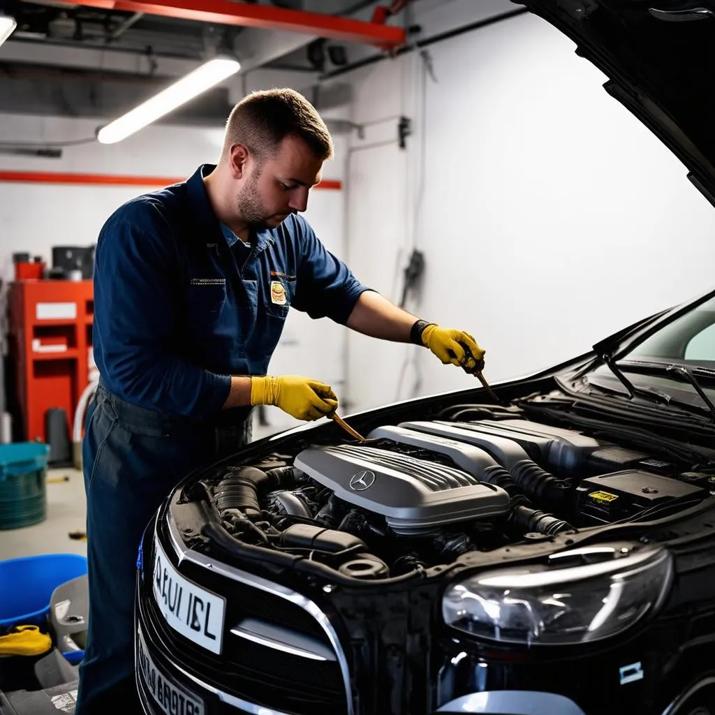
MULTIPOLYGON (((164 550, 172 554, 164 542, 164 550)), ((174 568, 176 563, 174 563, 174 568)), ((217 656, 169 627, 159 612, 150 580, 142 585, 142 611, 161 634, 166 657, 207 684, 259 706, 295 715, 340 715, 345 687, 337 661, 320 661, 280 651, 231 633, 245 618, 305 633, 330 647, 319 623, 295 603, 260 588, 221 576, 189 561, 182 573, 226 598, 222 654, 217 656)))

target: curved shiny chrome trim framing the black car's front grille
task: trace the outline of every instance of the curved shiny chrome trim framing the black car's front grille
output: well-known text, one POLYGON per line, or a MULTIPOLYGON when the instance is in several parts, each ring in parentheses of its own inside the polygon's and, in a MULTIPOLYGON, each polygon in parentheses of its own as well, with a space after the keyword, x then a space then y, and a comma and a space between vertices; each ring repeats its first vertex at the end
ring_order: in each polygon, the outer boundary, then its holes
MULTIPOLYGON (((340 646, 340 641, 337 638, 337 633, 335 633, 335 628, 332 627, 332 623, 328 620, 325 613, 323 613, 320 608, 313 603, 310 598, 303 596, 302 593, 297 593, 291 588, 286 586, 281 586, 280 583, 273 583, 268 581, 266 578, 261 576, 255 576, 247 571, 241 571, 239 568, 234 568, 233 566, 228 566, 226 563, 221 563, 220 561, 215 561, 215 559, 204 556, 197 551, 186 548, 181 541, 178 529, 172 520, 169 518, 169 512, 167 511, 167 527, 169 528, 169 536, 172 540, 172 546, 174 546, 174 552, 179 558, 179 566, 182 561, 190 561, 195 563, 197 566, 203 566, 204 568, 209 568, 214 573, 219 573, 221 576, 226 578, 231 578, 233 581, 238 581, 246 586, 253 586, 253 588, 258 588, 261 591, 266 591, 266 593, 272 593, 274 596, 279 596, 284 598, 286 601, 295 603, 307 613, 315 618, 318 625, 322 628, 330 641, 332 649, 335 651, 335 656, 337 656, 337 662, 340 665, 340 673, 342 674, 342 684, 345 687, 345 708, 346 715, 354 715, 354 709, 352 707, 352 688, 350 687, 350 671, 347 668, 347 659, 345 658, 345 653, 342 651, 342 646, 340 646)), ((189 674, 187 674, 189 675, 189 674)), ((189 676, 191 677, 191 676, 189 676)), ((192 680, 195 680, 192 678, 192 680)), ((198 682, 198 681, 197 681, 198 682)), ((233 696, 223 693, 222 691, 215 690, 215 693, 221 698, 226 696, 227 698, 232 698, 233 696)), ((229 702, 229 701, 226 701, 229 702)), ((241 701, 245 703, 245 701, 241 701)), ((246 704, 237 705, 237 707, 242 707, 248 709, 246 704)), ((251 713, 255 715, 287 715, 279 713, 278 711, 272 711, 268 708, 259 708, 259 706, 253 705, 255 710, 248 709, 251 713)))

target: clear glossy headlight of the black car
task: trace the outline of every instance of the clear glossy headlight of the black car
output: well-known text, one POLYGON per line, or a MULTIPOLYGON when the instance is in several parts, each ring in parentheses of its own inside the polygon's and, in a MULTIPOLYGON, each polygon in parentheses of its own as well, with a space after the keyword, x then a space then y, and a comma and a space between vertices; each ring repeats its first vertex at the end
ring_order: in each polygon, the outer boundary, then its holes
POLYGON ((445 623, 515 644, 578 644, 621 633, 660 605, 673 572, 663 548, 619 556, 624 552, 575 549, 554 554, 548 565, 478 573, 445 591, 445 623))

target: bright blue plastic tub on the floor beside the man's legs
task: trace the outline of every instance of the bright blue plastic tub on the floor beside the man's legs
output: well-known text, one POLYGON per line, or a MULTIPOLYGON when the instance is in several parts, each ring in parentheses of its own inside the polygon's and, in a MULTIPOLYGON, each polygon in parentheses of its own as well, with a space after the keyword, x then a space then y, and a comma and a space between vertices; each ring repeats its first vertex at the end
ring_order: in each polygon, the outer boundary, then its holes
POLYGON ((41 625, 57 586, 87 573, 87 556, 48 553, 0 561, 0 628, 41 625))

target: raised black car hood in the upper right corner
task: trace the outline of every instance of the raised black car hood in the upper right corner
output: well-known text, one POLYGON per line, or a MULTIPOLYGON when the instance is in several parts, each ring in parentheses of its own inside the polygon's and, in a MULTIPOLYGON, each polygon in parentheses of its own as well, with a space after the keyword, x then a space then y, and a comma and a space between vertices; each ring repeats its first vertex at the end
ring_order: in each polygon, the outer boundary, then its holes
POLYGON ((568 35, 604 85, 715 206, 715 0, 522 0, 568 35))

